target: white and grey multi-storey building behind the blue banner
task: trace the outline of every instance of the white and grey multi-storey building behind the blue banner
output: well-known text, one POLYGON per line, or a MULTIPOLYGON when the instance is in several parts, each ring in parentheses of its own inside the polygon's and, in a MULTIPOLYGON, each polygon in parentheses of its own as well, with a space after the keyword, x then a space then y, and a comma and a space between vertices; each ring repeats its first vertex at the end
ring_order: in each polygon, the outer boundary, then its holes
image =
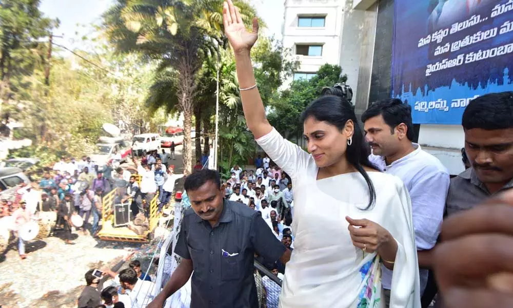
MULTIPOLYGON (((340 65, 358 118, 369 102, 391 97, 394 0, 285 0, 284 8, 283 45, 301 64, 293 79, 340 65)), ((450 174, 463 171, 461 125, 415 125, 415 135, 450 174)))

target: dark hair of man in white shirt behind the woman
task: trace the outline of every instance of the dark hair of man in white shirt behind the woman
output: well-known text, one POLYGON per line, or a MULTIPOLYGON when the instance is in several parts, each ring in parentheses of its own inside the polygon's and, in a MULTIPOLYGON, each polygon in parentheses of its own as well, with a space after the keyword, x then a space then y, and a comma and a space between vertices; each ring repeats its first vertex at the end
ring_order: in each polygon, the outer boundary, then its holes
POLYGON ((411 106, 404 104, 399 99, 387 99, 372 103, 362 114, 362 122, 381 115, 386 125, 390 126, 390 132, 401 123, 406 124, 406 137, 413 141, 413 121, 411 120, 411 106))

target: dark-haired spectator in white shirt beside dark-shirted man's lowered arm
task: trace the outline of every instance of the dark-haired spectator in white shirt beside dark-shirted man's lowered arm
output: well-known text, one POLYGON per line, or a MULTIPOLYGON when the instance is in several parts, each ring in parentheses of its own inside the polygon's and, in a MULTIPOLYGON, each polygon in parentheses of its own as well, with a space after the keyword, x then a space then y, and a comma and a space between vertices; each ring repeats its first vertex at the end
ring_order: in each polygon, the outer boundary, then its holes
POLYGON ((132 268, 125 268, 120 272, 120 283, 125 290, 130 290, 132 308, 146 308, 154 298, 155 284, 137 278, 137 273, 132 268))

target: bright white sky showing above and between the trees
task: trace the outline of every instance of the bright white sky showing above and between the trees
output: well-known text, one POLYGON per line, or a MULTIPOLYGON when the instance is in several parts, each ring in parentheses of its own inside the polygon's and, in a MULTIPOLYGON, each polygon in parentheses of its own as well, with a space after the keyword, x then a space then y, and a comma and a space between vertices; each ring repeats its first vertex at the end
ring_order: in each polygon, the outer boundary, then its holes
MULTIPOLYGON (((267 35, 281 40, 284 0, 249 0, 258 15, 267 24, 267 35)), ((70 49, 84 48, 83 35, 91 35, 91 24, 100 24, 102 14, 113 4, 113 0, 42 0, 40 9, 48 17, 59 18, 61 26, 54 31, 55 43, 70 49)))

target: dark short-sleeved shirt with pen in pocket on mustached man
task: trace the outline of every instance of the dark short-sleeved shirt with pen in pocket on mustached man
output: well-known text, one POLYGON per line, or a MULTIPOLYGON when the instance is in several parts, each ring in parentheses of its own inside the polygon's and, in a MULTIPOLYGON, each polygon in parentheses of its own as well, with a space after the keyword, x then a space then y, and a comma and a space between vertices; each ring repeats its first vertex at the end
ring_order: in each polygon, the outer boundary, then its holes
POLYGON ((174 252, 192 259, 191 308, 257 308, 254 253, 274 262, 285 246, 259 212, 224 199, 223 213, 213 228, 187 209, 174 252))

